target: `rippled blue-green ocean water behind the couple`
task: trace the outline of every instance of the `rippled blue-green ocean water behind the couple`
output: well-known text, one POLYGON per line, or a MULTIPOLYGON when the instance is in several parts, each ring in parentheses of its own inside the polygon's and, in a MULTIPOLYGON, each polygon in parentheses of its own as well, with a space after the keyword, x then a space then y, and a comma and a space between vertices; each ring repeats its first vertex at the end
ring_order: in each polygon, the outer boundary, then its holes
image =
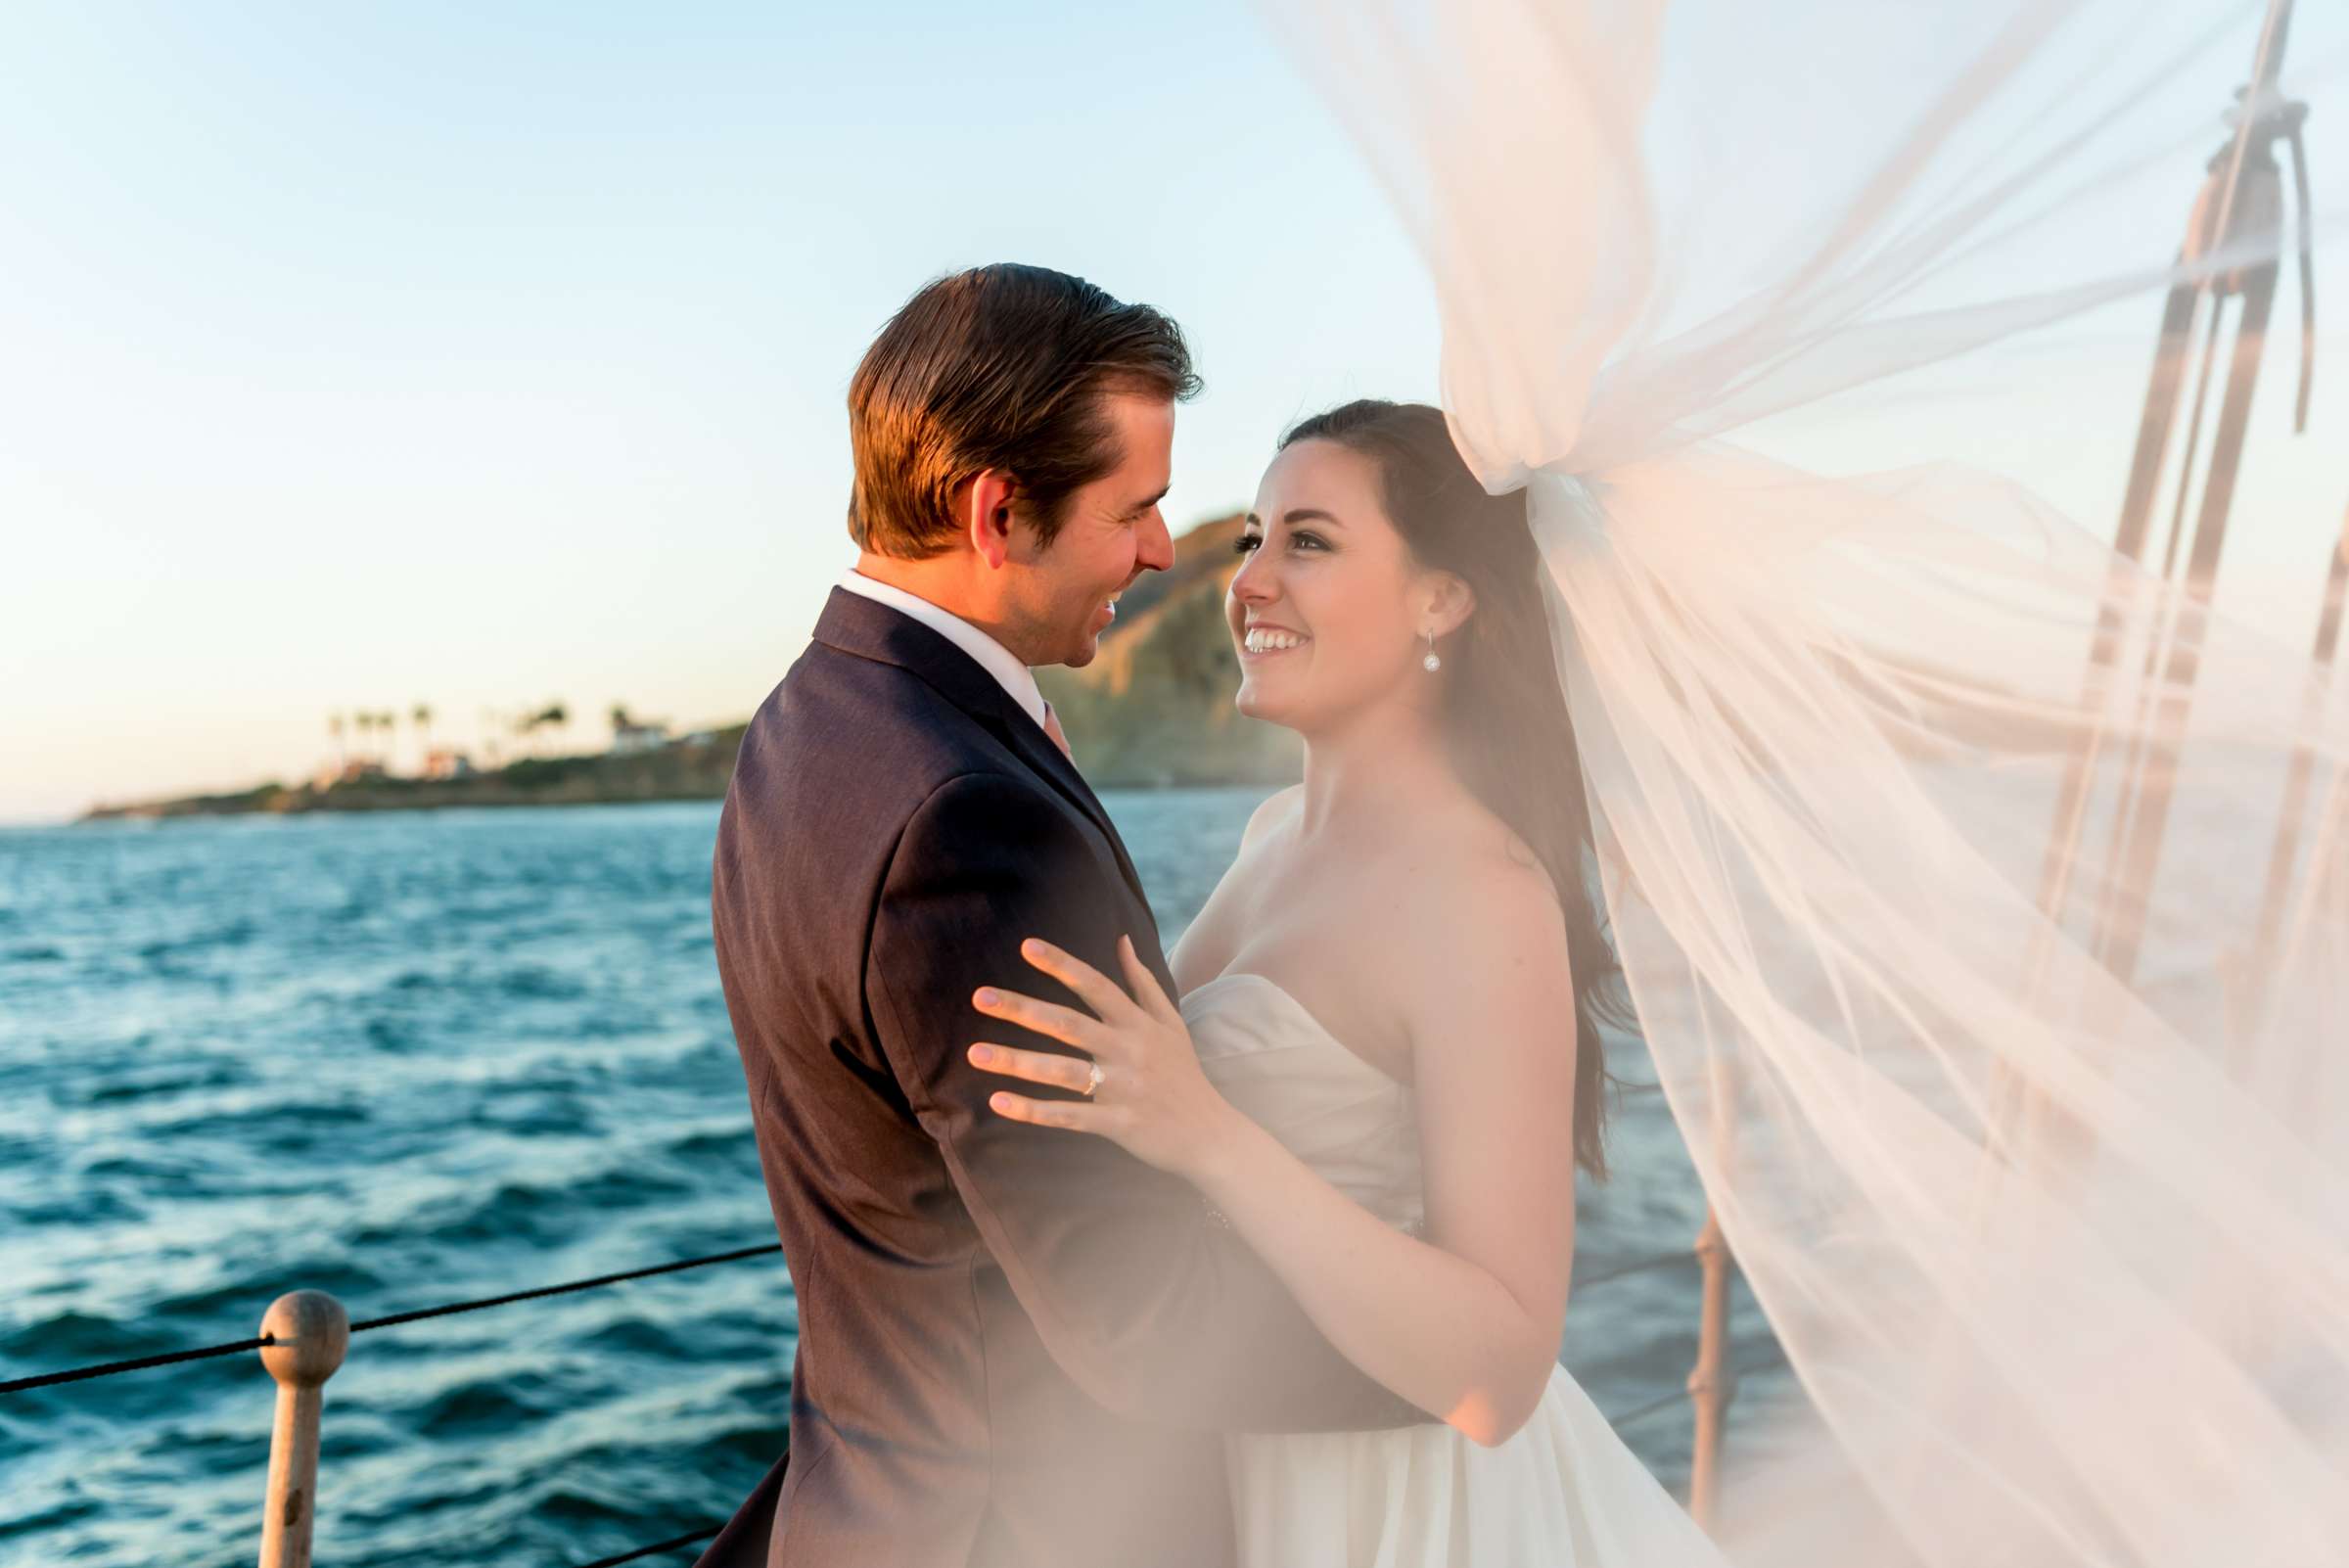
MULTIPOLYGON (((1261 791, 1111 793, 1172 941, 1261 791)), ((716 805, 0 833, 0 1378, 773 1242, 709 948, 716 805)), ((1633 1042, 1616 1068, 1640 1080, 1633 1042)), ((1583 1277, 1684 1249, 1654 1094, 1583 1277)), ((1769 1338, 1738 1298, 1736 1361, 1769 1338)), ((1668 1481, 1696 1270, 1579 1291, 1564 1361, 1668 1481)), ((561 1568, 723 1519, 785 1444, 778 1256, 357 1336, 319 1561, 561 1568)), ((249 1563, 251 1354, 0 1397, 0 1563, 249 1563)), ((1731 1444, 1736 1427, 1731 1425, 1731 1444)), ((681 1552, 660 1561, 688 1561, 681 1552)))

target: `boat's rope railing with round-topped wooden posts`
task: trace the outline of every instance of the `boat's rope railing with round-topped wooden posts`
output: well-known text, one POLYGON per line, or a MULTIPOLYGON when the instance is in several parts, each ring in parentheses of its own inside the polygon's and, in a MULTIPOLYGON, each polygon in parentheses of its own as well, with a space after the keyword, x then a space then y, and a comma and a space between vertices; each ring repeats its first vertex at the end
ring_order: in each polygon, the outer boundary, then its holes
MULTIPOLYGON (((122 1361, 96 1361, 92 1366, 73 1366, 63 1371, 35 1373, 28 1378, 9 1378, 0 1380, 0 1394, 23 1394, 31 1390, 56 1387, 63 1383, 87 1383, 94 1378, 115 1378, 122 1373, 150 1371, 157 1366, 179 1366, 186 1361, 207 1361, 216 1357, 261 1352, 263 1366, 277 1380, 277 1420, 275 1420, 275 1432, 270 1437, 270 1483, 263 1512, 261 1568, 305 1568, 310 1563, 310 1523, 312 1523, 312 1500, 317 1491, 317 1427, 322 1411, 322 1387, 327 1378, 331 1378, 334 1371, 341 1366, 343 1350, 350 1343, 352 1333, 369 1333, 373 1329, 397 1329, 402 1324, 418 1324, 437 1317, 456 1317, 460 1312, 484 1312, 489 1307, 505 1307, 519 1300, 543 1300, 547 1296, 597 1291, 625 1284, 630 1279, 677 1275, 684 1270, 709 1268, 716 1263, 740 1263, 745 1258, 763 1258, 780 1251, 782 1246, 778 1242, 766 1242, 759 1246, 738 1246, 733 1251, 709 1253, 702 1258, 677 1258, 672 1263, 653 1263, 646 1268, 632 1268, 611 1275, 592 1275, 587 1279, 543 1284, 529 1291, 507 1291, 503 1296, 482 1296, 477 1300, 451 1300, 437 1307, 413 1307, 406 1312, 390 1312, 385 1317, 369 1317, 357 1324, 345 1319, 343 1305, 331 1296, 324 1296, 322 1291, 294 1291, 270 1303, 270 1310, 261 1322, 261 1333, 254 1338, 228 1340, 223 1345, 200 1345, 190 1350, 167 1350, 160 1354, 129 1357, 122 1361)), ((1647 1275, 1687 1263, 1705 1263, 1708 1275, 1715 1275, 1722 1261, 1717 1256, 1708 1256, 1701 1239, 1696 1251, 1665 1251, 1597 1270, 1593 1275, 1576 1279, 1576 1289, 1588 1291, 1616 1279, 1630 1279, 1635 1275, 1647 1275)), ((1708 1329, 1712 1326, 1710 1319, 1715 1317, 1710 1296, 1712 1291, 1708 1291, 1708 1329)), ((1734 1387, 1736 1378, 1745 1376, 1745 1371, 1748 1368, 1731 1373, 1727 1380, 1729 1387, 1734 1387)), ((1759 1364, 1750 1371, 1759 1371, 1759 1364)), ((1696 1394, 1727 1399, 1729 1387, 1715 1390, 1710 1380, 1701 1380, 1696 1373, 1691 1373, 1687 1387, 1675 1390, 1663 1399, 1649 1401, 1637 1411, 1630 1411, 1611 1420, 1616 1427, 1623 1427, 1696 1394)), ((669 1540, 658 1540, 644 1547, 634 1547, 618 1556, 601 1556, 592 1563, 580 1563, 578 1568, 620 1568, 620 1563, 637 1563, 669 1552, 681 1552, 686 1547, 709 1540, 721 1528, 723 1521, 705 1523, 686 1535, 674 1535, 669 1540)))

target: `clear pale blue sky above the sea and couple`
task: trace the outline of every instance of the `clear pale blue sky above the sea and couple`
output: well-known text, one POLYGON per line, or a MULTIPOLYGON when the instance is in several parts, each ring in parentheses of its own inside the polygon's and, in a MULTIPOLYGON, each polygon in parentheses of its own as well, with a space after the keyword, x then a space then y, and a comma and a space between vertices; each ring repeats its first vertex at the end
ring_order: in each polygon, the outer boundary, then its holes
MULTIPOLYGON (((2316 9, 2295 56, 2337 59, 2316 9)), ((1395 221, 1224 0, 19 0, 0 59, 0 819, 298 777, 348 707, 745 716, 850 554, 848 373, 944 270, 1184 322, 1177 526, 1299 413, 1435 387, 1395 221)), ((1952 383, 1952 430, 2109 526, 2149 317, 2062 387, 1952 383)), ((2295 580, 2349 502, 2309 455, 2349 451, 2344 350, 2250 495, 2295 580)))

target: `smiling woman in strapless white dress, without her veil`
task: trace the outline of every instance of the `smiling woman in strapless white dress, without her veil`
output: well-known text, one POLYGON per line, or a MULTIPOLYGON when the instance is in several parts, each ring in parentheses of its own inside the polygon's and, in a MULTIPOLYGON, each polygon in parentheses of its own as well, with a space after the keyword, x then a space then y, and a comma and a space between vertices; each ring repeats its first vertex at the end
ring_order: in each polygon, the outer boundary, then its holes
POLYGON ((1525 495, 1478 486, 1442 411, 1358 401, 1285 437, 1238 547, 1238 707, 1304 735, 1304 784, 1257 810, 1170 955, 1182 1012, 1130 946, 1139 1000, 1027 944, 1092 1016, 1008 988, 980 1012, 1102 1077, 1092 1103, 991 1106, 1189 1178, 1337 1350, 1442 1415, 1229 1439, 1243 1563, 1712 1561, 1557 1366, 1616 972, 1590 822, 1555 786, 1581 763, 1525 495))

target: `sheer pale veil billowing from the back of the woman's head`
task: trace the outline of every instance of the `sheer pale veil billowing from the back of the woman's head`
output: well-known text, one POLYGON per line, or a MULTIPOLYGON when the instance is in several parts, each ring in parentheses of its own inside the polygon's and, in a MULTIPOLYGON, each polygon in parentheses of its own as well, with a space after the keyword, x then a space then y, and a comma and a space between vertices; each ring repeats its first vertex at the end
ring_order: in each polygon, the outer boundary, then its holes
POLYGON ((2271 254, 2123 244, 2213 141, 2168 89, 2262 26, 2156 9, 1273 7, 1426 256, 1461 453, 1529 486, 1642 1033, 1818 1422, 1734 1469, 1738 1561, 2349 1563, 2321 671, 1957 427, 1860 477, 1724 439, 2271 254))

